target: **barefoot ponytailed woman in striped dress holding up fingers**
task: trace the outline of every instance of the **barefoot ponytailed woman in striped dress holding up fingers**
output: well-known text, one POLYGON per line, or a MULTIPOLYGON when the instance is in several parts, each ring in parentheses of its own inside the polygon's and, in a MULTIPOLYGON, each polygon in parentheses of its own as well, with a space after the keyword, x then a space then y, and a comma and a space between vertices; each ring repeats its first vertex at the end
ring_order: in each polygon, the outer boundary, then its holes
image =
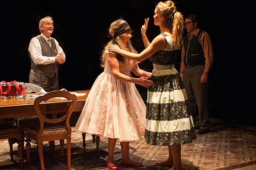
POLYGON ((110 45, 108 50, 138 62, 148 58, 153 63, 154 85, 148 88, 145 139, 149 144, 169 147, 168 159, 157 165, 182 170, 181 144, 196 139, 186 91, 174 68, 182 40, 183 17, 172 1, 160 2, 154 11, 154 25, 160 27, 160 35, 150 43, 146 36, 148 19, 145 19, 141 28, 145 50, 140 54, 129 53, 117 45, 110 45))

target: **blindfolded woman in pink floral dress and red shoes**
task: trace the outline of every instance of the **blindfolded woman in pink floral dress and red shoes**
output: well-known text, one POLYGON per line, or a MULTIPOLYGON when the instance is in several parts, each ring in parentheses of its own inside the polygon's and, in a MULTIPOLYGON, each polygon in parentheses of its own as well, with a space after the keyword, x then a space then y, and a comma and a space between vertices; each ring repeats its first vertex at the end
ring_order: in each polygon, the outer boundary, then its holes
POLYGON ((118 169, 113 151, 116 139, 122 146, 122 165, 142 166, 129 158, 129 141, 143 139, 145 134, 146 106, 135 84, 150 87, 154 83, 148 78, 151 73, 141 70, 138 62, 108 52, 111 44, 136 53, 130 38, 131 28, 124 20, 111 23, 108 42, 102 53, 104 72, 94 82, 75 129, 82 133, 108 137, 108 159, 110 169, 118 169), (131 77, 131 71, 140 78, 131 77))

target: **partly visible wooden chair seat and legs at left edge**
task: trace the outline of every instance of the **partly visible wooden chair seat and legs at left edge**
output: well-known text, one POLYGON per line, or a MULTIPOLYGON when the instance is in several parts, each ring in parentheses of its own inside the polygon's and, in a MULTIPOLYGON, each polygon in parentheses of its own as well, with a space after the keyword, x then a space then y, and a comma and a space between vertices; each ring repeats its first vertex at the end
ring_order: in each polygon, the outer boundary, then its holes
POLYGON ((11 161, 13 161, 13 150, 12 144, 15 138, 17 138, 18 151, 20 156, 20 167, 23 167, 23 143, 24 143, 24 133, 18 127, 12 125, 12 123, 1 123, 0 124, 0 139, 8 139, 10 146, 10 156, 11 161))

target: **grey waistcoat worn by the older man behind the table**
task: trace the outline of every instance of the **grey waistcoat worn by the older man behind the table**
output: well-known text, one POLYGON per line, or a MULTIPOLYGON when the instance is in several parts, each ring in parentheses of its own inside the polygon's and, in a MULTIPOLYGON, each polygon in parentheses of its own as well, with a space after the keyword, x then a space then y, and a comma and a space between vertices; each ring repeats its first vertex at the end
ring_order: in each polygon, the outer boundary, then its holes
MULTIPOLYGON (((55 57, 57 55, 57 48, 55 41, 52 39, 52 48, 49 46, 48 42, 44 39, 44 37, 37 37, 37 39, 40 42, 41 48, 42 48, 42 55, 47 57, 55 57)), ((31 69, 35 72, 38 72, 40 74, 47 75, 49 77, 53 77, 56 73, 58 75, 58 62, 52 63, 52 64, 39 64, 36 65, 33 60, 31 59, 30 53, 29 57, 31 60, 31 69)))

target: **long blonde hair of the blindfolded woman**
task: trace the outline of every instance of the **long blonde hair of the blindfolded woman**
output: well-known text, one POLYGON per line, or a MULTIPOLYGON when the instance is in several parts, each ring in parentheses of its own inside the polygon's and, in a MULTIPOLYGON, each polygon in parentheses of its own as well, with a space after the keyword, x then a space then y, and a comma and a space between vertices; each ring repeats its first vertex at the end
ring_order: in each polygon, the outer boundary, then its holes
MULTIPOLYGON (((105 51, 108 50, 108 46, 112 44, 112 39, 114 37, 114 34, 116 32, 116 29, 122 24, 124 23, 125 20, 123 19, 118 19, 116 21, 114 21, 113 23, 111 23, 110 27, 108 28, 108 34, 109 34, 109 37, 111 37, 111 40, 107 43, 107 45, 105 45, 105 48, 104 50, 102 51, 102 55, 101 55, 101 66, 104 67, 105 66, 105 61, 106 61, 106 56, 105 56, 105 51)), ((121 36, 122 34, 120 34, 119 36, 116 37, 116 42, 118 43, 119 47, 122 49, 122 50, 125 50, 125 51, 129 51, 129 52, 132 52, 132 53, 136 53, 137 54, 137 51, 135 50, 135 48, 133 47, 132 43, 131 43, 131 40, 128 40, 127 41, 127 44, 124 44, 122 42, 122 39, 121 39, 121 36)), ((123 60, 124 60, 124 64, 128 64, 130 62, 130 59, 127 59, 126 57, 123 57, 123 60)), ((133 60, 132 60, 133 61, 133 60)))

